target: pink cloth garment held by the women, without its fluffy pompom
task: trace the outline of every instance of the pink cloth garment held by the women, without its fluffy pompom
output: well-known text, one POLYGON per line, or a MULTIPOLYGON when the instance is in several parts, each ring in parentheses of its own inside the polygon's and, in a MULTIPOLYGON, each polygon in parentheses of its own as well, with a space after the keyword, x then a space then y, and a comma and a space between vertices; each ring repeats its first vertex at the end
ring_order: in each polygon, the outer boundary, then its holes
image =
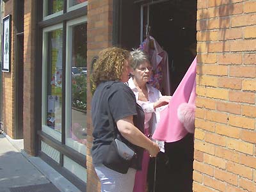
POLYGON ((180 104, 191 103, 191 101, 195 104, 195 79, 196 58, 191 63, 177 90, 173 93, 168 107, 160 112, 160 122, 152 138, 169 143, 179 141, 188 134, 188 131, 186 131, 184 125, 180 122, 177 112, 180 104))

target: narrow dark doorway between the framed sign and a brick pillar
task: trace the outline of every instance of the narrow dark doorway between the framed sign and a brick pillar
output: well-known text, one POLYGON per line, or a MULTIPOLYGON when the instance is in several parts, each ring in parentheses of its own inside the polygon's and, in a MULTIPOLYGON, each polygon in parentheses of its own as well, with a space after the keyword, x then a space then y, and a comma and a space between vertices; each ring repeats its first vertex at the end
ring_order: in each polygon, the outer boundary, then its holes
POLYGON ((16 122, 15 139, 23 138, 23 86, 24 86, 24 0, 17 1, 16 4, 16 122))

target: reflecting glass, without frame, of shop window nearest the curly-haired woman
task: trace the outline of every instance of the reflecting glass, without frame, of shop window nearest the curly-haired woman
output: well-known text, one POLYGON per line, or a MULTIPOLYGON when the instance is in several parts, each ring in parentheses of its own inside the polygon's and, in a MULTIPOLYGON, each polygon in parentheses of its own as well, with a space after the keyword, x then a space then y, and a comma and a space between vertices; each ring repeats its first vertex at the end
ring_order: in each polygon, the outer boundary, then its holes
POLYGON ((72 112, 70 136, 86 144, 86 77, 87 42, 86 23, 72 27, 72 112))

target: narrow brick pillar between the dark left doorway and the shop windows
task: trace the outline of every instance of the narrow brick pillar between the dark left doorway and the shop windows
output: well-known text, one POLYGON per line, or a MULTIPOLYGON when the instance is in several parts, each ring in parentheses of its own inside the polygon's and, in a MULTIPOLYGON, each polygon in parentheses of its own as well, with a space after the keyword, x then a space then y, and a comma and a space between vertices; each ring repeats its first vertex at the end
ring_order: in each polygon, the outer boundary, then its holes
POLYGON ((36 1, 24 1, 24 150, 35 156, 35 6, 36 1))

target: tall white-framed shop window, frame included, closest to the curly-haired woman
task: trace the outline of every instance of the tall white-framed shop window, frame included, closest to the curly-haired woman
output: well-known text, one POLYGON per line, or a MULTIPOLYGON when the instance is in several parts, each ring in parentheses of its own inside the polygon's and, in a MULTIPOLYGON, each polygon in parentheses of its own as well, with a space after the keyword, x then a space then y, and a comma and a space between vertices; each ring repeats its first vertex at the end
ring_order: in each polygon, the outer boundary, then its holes
POLYGON ((87 24, 83 19, 67 23, 66 145, 86 152, 87 24), (80 23, 77 23, 80 22, 80 23), (82 23, 81 23, 82 22, 82 23), (69 96, 68 96, 69 95, 69 96), (69 107, 70 106, 70 107, 69 107))

